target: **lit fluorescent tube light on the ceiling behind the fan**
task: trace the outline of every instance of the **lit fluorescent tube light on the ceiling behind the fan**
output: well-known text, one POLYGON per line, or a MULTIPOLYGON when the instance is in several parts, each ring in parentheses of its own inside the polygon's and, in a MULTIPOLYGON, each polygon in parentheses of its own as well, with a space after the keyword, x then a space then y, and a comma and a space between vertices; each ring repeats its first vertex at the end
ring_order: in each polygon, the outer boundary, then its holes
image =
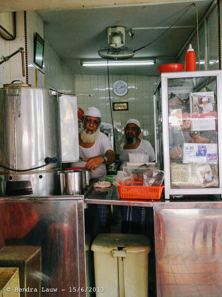
POLYGON ((112 61, 109 60, 80 60, 82 66, 139 66, 139 65, 153 65, 155 64, 155 59, 143 59, 143 60, 127 60, 127 61, 112 61))

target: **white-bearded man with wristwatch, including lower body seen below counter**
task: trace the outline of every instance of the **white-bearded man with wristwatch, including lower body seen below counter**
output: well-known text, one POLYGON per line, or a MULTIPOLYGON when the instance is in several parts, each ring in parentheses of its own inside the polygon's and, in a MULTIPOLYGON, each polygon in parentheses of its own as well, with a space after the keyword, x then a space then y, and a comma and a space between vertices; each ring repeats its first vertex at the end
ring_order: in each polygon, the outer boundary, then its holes
MULTIPOLYGON (((101 118, 101 112, 96 107, 89 107, 84 112, 83 125, 78 135, 81 161, 71 163, 71 167, 90 169, 92 177, 104 177, 107 174, 106 164, 112 164, 115 161, 115 154, 109 138, 100 132, 101 118)), ((98 207, 90 205, 85 214, 86 229, 91 229, 90 232, 94 235, 105 232, 106 211, 106 204, 98 204, 98 207), (97 230, 98 227, 100 231, 97 230)))

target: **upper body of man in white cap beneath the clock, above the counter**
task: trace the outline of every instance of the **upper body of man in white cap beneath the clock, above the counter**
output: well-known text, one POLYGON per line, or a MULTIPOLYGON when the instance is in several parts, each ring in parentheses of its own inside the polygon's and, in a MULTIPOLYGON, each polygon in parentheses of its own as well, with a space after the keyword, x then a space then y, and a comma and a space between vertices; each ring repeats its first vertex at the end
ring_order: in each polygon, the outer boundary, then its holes
POLYGON ((129 119, 124 128, 125 143, 120 146, 119 159, 122 162, 129 162, 129 152, 142 152, 149 155, 149 162, 155 161, 155 152, 151 144, 145 140, 140 139, 141 134, 140 122, 136 119, 129 119))

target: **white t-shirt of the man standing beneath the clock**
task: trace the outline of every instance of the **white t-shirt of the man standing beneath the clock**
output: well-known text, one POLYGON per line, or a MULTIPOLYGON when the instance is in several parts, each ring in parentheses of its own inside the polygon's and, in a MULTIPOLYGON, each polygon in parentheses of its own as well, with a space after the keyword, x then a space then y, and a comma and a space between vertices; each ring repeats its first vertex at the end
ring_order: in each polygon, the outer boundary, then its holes
POLYGON ((141 143, 138 148, 135 149, 124 149, 123 148, 124 143, 120 146, 120 153, 119 153, 119 159, 122 162, 129 162, 129 152, 144 152, 149 154, 149 162, 152 162, 155 160, 155 152, 152 148, 151 144, 145 140, 141 139, 141 143))

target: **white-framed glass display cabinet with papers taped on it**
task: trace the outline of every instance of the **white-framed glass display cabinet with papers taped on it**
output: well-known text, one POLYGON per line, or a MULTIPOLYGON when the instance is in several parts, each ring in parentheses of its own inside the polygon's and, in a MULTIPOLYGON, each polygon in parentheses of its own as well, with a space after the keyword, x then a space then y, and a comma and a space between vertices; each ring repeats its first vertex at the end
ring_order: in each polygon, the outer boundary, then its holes
POLYGON ((154 90, 155 149, 165 198, 222 194, 222 71, 162 73, 154 90))

